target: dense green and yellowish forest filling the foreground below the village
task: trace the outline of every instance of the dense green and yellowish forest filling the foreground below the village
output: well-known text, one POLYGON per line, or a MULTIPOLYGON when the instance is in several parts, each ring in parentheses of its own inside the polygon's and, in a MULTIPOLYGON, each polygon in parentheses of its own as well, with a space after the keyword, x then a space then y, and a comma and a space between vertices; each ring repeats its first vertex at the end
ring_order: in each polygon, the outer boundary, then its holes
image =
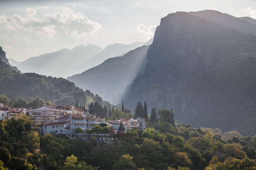
MULTIPOLYGON (((116 111, 120 112, 120 110, 116 111)), ((154 110, 153 110, 154 111, 154 110)), ((122 111, 121 111, 122 112, 122 111)), ((159 112, 159 111, 158 111, 159 112)), ((161 112, 161 111, 160 111, 161 112)), ((170 113, 170 112, 169 112, 170 113)), ((113 143, 36 131, 29 116, 0 121, 1 170, 254 170, 256 136, 147 122, 113 143)))

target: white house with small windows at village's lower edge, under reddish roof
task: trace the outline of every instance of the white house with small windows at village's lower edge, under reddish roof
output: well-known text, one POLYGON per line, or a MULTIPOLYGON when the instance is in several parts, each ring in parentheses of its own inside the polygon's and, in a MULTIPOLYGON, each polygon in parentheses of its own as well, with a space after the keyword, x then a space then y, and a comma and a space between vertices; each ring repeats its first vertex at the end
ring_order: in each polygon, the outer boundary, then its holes
POLYGON ((43 126, 44 133, 68 134, 71 129, 68 121, 48 123, 43 126))

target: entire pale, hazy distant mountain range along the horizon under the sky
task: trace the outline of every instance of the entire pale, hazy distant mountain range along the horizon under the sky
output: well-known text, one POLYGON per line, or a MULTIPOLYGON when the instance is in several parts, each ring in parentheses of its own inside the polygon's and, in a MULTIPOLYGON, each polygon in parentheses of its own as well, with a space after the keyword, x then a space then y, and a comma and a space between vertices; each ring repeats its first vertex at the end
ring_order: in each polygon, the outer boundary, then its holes
POLYGON ((95 67, 111 57, 122 56, 144 44, 143 42, 129 45, 115 43, 107 46, 104 50, 96 45, 88 44, 84 46, 81 44, 73 49, 61 49, 31 57, 23 62, 9 60, 11 65, 18 67, 23 73, 34 72, 41 75, 66 78, 95 67))

